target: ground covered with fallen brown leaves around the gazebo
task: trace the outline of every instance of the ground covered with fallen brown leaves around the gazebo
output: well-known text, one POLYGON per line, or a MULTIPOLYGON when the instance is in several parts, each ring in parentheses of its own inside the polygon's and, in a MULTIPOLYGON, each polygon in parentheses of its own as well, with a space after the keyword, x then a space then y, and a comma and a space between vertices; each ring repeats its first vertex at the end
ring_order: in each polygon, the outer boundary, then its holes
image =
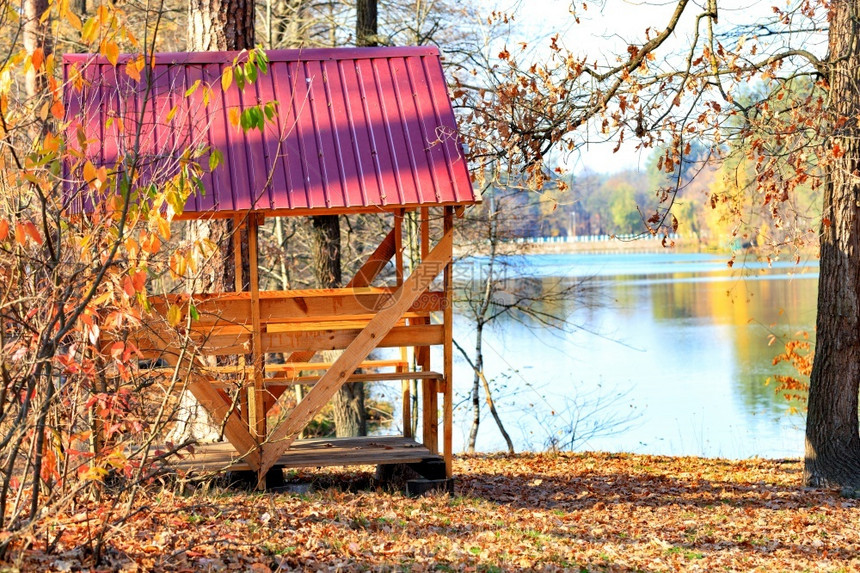
MULTIPOLYGON (((302 495, 152 491, 87 538, 104 506, 51 517, 11 570, 856 571, 860 502, 801 487, 798 460, 629 454, 464 456, 457 494, 411 499, 369 470, 302 472, 302 495), (54 534, 56 535, 56 533, 54 534)), ((104 503, 104 502, 103 502, 104 503)), ((0 567, 2 569, 2 567, 0 567)))

